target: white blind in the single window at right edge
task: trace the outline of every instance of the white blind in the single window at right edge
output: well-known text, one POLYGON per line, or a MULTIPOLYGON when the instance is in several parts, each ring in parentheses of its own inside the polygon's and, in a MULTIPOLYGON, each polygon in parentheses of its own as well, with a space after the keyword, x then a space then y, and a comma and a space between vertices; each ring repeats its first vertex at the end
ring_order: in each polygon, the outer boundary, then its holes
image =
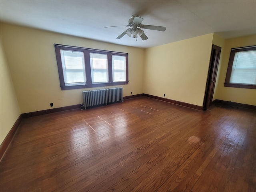
POLYGON ((236 52, 230 83, 256 84, 256 50, 236 52))

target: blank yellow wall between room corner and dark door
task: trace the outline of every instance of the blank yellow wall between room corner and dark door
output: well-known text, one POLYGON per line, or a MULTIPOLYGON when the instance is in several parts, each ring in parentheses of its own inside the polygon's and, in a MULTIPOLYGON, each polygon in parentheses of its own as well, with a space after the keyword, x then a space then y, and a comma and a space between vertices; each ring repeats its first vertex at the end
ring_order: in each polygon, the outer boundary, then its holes
POLYGON ((146 49, 144 93, 203 105, 213 34, 146 49))

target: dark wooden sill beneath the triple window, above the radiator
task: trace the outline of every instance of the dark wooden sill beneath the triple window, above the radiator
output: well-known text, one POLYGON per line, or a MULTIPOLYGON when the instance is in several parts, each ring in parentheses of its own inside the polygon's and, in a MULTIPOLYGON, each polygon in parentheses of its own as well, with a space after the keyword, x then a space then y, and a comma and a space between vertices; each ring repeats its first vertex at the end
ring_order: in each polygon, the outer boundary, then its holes
POLYGON ((126 84, 128 84, 128 82, 95 83, 95 84, 84 84, 84 85, 64 85, 64 86, 60 86, 60 87, 61 87, 61 90, 70 90, 70 89, 107 87, 107 86, 126 85, 126 84))

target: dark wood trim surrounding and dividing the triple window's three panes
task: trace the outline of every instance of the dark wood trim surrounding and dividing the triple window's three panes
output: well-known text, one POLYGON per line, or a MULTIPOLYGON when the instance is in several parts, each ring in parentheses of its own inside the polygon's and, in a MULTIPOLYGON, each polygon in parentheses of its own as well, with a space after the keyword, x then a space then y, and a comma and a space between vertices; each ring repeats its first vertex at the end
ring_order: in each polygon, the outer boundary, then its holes
POLYGON ((58 66, 58 73, 59 73, 59 78, 60 78, 60 87, 62 90, 126 85, 129 82, 129 80, 128 80, 128 53, 98 50, 98 49, 91 49, 91 48, 83 48, 83 47, 77 47, 77 46, 67 46, 67 45, 61 45, 61 44, 54 44, 54 47, 55 47, 56 60, 57 60, 57 66, 58 66), (86 64, 86 68, 85 68, 86 69, 86 84, 74 84, 74 85, 72 85, 72 84, 66 85, 65 84, 63 70, 62 70, 60 50, 73 50, 73 51, 84 52, 84 62, 86 64), (91 67, 90 67, 90 52, 108 55, 108 82, 107 83, 92 83, 91 67), (126 57, 126 81, 125 82, 113 82, 112 55, 119 55, 119 56, 126 57))

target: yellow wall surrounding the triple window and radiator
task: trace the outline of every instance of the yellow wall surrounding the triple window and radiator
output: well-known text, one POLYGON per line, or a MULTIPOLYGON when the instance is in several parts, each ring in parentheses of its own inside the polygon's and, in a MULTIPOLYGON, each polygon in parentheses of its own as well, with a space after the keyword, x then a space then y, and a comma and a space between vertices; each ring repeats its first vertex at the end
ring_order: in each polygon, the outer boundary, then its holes
MULTIPOLYGON (((2 44, 21 113, 82 104, 82 90, 61 90, 54 43, 129 54, 129 84, 123 95, 143 93, 144 49, 97 42, 43 30, 1 24, 2 44)), ((109 88, 109 87, 108 87, 109 88)))

